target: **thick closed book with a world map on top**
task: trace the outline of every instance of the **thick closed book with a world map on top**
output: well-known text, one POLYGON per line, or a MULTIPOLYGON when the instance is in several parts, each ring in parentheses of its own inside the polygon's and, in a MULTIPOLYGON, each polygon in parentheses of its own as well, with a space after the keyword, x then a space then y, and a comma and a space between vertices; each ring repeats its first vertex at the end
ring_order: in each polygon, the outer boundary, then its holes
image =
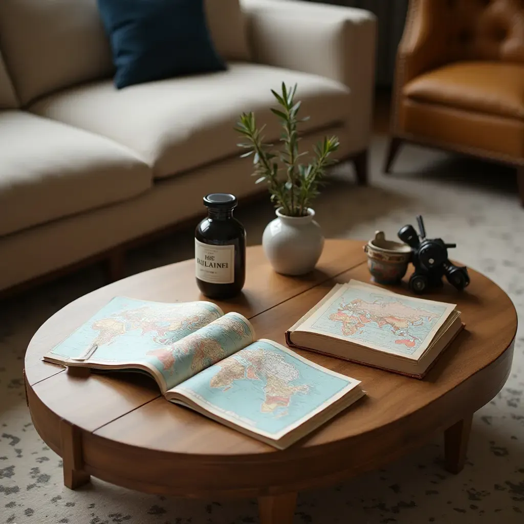
POLYGON ((423 378, 462 330, 455 304, 350 280, 337 284, 286 332, 287 343, 423 378))

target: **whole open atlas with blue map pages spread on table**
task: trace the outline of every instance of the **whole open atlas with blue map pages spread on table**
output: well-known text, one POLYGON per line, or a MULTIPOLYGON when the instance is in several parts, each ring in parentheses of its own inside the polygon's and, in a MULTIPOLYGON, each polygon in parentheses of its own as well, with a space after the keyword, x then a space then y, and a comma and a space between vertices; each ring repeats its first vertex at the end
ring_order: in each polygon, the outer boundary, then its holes
POLYGON ((279 449, 364 395, 358 380, 256 340, 244 316, 211 302, 116 297, 43 359, 146 372, 167 400, 279 449))

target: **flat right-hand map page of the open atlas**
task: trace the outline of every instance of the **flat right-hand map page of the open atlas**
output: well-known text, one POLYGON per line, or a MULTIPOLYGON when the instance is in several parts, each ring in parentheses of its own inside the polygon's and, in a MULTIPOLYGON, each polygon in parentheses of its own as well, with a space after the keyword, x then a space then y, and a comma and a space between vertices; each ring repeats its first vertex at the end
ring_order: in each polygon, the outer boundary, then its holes
POLYGON ((358 384, 262 339, 186 380, 168 398, 181 394, 204 414, 278 440, 358 384))

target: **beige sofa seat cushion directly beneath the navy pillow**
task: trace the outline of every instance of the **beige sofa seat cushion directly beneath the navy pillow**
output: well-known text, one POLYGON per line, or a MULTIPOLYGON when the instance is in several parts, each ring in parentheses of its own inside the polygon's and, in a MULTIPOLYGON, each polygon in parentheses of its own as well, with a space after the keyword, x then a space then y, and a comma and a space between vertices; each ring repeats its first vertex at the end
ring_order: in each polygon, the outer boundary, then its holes
POLYGON ((303 130, 347 121, 350 91, 343 84, 247 63, 121 91, 109 81, 82 85, 52 94, 30 110, 133 149, 161 178, 240 154, 234 126, 242 112, 255 111, 258 125, 267 124, 267 139, 278 140, 281 128, 270 112, 277 105, 270 90, 279 90, 282 81, 298 83, 300 113, 311 116, 303 130))

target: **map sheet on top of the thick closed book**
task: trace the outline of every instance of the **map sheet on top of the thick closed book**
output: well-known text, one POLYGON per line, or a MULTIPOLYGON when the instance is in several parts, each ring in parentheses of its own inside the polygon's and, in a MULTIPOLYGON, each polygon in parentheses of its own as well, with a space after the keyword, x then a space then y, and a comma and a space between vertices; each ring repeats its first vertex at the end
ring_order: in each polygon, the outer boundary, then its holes
POLYGON ((351 280, 335 288, 296 331, 418 359, 454 310, 455 304, 406 297, 351 280))

